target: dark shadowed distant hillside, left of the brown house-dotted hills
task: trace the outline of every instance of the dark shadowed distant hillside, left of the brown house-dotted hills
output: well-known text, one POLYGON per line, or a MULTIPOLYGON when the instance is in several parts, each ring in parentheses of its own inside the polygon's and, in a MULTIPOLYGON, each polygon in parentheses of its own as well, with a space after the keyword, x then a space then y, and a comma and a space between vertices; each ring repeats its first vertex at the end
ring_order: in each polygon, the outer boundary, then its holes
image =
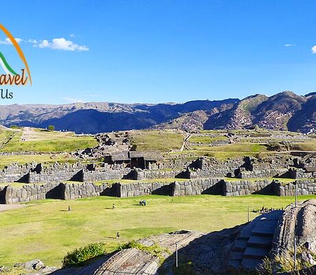
POLYGON ((227 99, 195 100, 183 104, 89 102, 65 105, 2 105, 0 106, 0 124, 42 128, 53 124, 56 130, 65 129, 76 133, 146 129, 178 118, 183 113, 210 111, 238 101, 238 99, 227 99))

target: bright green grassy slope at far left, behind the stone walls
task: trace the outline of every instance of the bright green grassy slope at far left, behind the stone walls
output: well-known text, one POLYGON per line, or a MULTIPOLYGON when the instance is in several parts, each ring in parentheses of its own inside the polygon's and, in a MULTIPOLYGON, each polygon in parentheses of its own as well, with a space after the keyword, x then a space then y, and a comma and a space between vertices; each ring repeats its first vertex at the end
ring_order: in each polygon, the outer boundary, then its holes
POLYGON ((4 152, 71 152, 94 147, 98 142, 94 137, 56 137, 52 140, 25 141, 12 140, 0 151, 4 152))

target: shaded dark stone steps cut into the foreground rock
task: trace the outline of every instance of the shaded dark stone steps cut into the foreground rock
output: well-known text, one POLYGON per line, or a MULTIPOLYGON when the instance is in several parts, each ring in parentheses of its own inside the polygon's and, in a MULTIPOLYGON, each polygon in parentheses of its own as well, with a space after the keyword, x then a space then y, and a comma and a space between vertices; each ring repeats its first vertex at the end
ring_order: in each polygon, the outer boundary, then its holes
POLYGON ((256 269, 271 250, 275 227, 283 212, 274 210, 261 214, 245 226, 236 238, 229 264, 249 270, 256 269))

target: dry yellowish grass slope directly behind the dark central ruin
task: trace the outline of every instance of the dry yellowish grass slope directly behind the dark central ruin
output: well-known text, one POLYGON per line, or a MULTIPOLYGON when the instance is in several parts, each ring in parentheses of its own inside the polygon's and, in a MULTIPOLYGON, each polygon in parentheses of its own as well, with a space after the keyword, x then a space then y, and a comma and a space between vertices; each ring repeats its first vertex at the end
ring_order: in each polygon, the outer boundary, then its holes
POLYGON ((132 133, 131 143, 136 151, 168 152, 181 148, 183 139, 181 133, 170 131, 138 131, 132 133))

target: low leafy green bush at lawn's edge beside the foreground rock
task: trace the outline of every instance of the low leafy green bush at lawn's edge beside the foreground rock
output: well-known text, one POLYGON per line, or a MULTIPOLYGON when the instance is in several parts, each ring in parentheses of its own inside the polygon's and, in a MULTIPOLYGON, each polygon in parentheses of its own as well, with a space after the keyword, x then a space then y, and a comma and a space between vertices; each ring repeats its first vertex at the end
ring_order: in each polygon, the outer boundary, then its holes
POLYGON ((90 243, 82 248, 68 252, 63 259, 63 267, 83 265, 84 262, 105 254, 104 243, 90 243))

